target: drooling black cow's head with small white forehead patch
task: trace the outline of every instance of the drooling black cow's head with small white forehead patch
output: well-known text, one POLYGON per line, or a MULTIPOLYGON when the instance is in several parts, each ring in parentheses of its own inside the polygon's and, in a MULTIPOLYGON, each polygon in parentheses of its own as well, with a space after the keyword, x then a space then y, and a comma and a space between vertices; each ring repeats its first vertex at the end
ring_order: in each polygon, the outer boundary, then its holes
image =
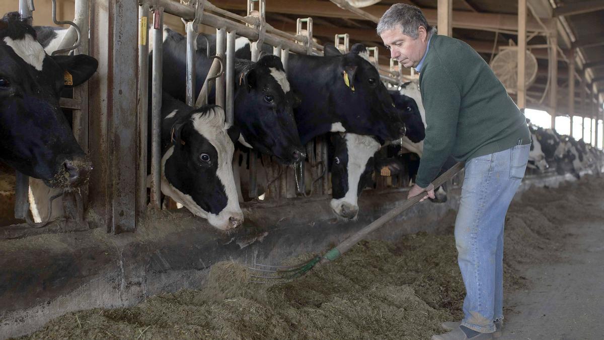
POLYGON ((300 162, 306 156, 300 143, 294 111, 294 93, 276 56, 263 56, 258 62, 240 62, 235 100, 235 122, 243 145, 274 155, 285 164, 300 162))

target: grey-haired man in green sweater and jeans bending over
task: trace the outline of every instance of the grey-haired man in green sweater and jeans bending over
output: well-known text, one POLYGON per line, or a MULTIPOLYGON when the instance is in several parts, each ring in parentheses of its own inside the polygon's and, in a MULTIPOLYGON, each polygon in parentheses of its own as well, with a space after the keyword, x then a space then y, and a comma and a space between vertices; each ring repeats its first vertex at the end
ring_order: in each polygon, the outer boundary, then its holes
POLYGON ((395 4, 377 24, 391 57, 419 72, 426 138, 408 197, 434 197, 430 182, 451 154, 466 162, 455 244, 466 298, 461 322, 432 339, 492 339, 503 327, 503 229, 528 161, 524 115, 469 45, 435 34, 422 11, 395 4))

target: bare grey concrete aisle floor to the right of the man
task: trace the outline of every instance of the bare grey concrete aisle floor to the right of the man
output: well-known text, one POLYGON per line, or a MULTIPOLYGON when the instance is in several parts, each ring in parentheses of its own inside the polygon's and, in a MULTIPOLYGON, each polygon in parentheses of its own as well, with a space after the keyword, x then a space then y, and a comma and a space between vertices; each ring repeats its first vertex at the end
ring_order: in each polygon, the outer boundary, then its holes
POLYGON ((567 227, 561 261, 518 268, 532 284, 507 296, 501 340, 604 339, 604 218, 567 227))

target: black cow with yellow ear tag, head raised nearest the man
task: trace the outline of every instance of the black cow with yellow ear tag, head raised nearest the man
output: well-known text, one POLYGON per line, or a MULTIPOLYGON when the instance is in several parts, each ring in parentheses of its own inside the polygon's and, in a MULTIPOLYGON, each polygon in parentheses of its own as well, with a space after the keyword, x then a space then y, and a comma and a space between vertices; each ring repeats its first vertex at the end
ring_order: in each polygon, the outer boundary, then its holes
MULTIPOLYGON (((249 43, 239 45, 237 57, 249 59, 249 43)), ((263 45, 263 51, 272 52, 268 45, 263 45)), ((364 45, 355 44, 347 54, 335 49, 326 49, 326 56, 289 54, 287 74, 300 98, 294 114, 303 144, 327 132, 352 132, 381 140, 404 134, 405 125, 397 117, 379 73, 359 55, 364 51, 364 45)))

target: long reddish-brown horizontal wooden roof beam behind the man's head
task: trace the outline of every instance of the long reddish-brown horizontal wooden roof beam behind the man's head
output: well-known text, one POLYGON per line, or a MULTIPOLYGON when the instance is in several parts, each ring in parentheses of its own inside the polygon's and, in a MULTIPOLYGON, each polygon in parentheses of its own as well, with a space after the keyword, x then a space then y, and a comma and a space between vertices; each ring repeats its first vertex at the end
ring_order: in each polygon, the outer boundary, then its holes
MULTIPOLYGON (((246 4, 240 0, 214 0, 216 7, 225 10, 246 10, 246 4)), ((372 5, 363 8, 368 14, 381 18, 384 12, 390 8, 388 5, 372 5)), ((301 16, 324 16, 327 18, 359 19, 359 16, 351 11, 339 8, 332 2, 317 0, 288 0, 279 1, 266 5, 267 12, 278 12, 301 16)), ((437 22, 437 10, 422 8, 428 23, 435 25, 437 22)), ((474 30, 518 30, 518 16, 503 15, 495 13, 475 13, 468 11, 453 11, 453 27, 470 28, 474 30)), ((541 19, 548 27, 551 19, 541 19)), ((544 28, 534 18, 527 18, 527 31, 544 31, 544 28)))

